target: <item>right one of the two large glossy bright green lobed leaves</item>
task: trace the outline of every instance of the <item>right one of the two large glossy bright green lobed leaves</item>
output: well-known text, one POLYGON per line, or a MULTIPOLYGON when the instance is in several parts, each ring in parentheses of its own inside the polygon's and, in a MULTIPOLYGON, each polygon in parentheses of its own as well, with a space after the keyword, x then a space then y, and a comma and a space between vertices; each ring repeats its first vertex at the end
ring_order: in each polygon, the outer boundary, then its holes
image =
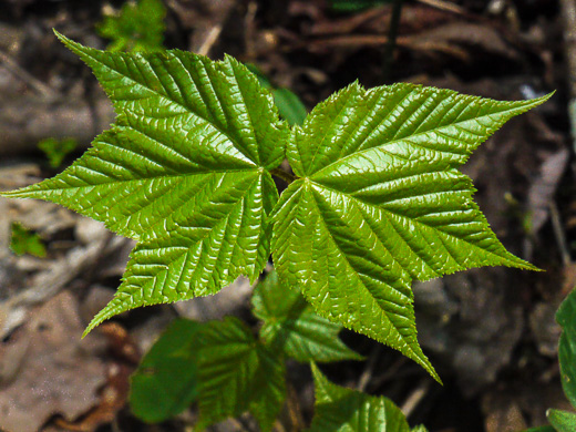
POLYGON ((300 178, 275 209, 280 278, 319 315, 400 350, 439 380, 418 344, 411 281, 488 265, 534 269, 496 239, 456 167, 546 99, 354 83, 317 105, 287 147, 300 178))

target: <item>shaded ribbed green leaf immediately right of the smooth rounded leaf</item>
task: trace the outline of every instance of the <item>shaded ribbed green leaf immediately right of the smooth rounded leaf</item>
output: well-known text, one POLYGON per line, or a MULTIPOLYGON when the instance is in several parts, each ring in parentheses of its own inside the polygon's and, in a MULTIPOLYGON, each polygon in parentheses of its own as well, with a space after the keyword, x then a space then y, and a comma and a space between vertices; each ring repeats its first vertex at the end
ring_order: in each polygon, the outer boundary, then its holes
POLYGON ((282 358, 233 317, 205 325, 196 343, 200 411, 196 428, 249 411, 263 431, 270 431, 286 397, 282 358))

